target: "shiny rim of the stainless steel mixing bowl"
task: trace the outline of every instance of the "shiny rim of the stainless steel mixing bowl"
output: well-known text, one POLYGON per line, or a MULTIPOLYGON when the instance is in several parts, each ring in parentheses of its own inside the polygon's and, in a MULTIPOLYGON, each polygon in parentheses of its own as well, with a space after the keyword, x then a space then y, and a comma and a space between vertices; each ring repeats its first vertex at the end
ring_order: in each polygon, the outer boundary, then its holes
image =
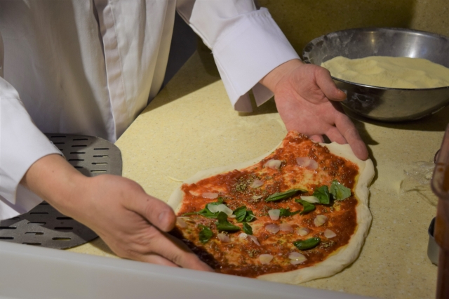
MULTIPOLYGON (((335 31, 335 32, 330 32, 328 34, 323 34, 323 35, 321 35, 319 37, 316 37, 315 39, 312 39, 311 41, 309 41, 309 43, 307 43, 306 46, 304 46, 304 49, 302 50, 303 61, 305 63, 308 63, 308 64, 312 65, 313 63, 310 62, 308 56, 305 56, 305 58, 304 58, 304 54, 309 52, 309 51, 305 51, 305 49, 309 45, 310 46, 314 46, 316 41, 319 41, 319 40, 323 39, 325 36, 328 36, 330 34, 337 34, 339 32, 350 32, 350 31, 366 32, 366 31, 387 31, 387 30, 424 34, 424 35, 427 35, 427 36, 438 37, 439 39, 445 39, 449 43, 449 37, 448 36, 444 36, 444 35, 441 35, 441 34, 436 34, 436 33, 433 33, 433 32, 422 31, 422 30, 415 30, 415 29, 408 29, 408 28, 397 28, 397 27, 360 27, 360 28, 351 28, 351 29, 343 29, 343 30, 339 30, 339 31, 335 31)), ((333 76, 331 76, 331 77, 332 77, 332 79, 334 79, 336 81, 343 82, 343 83, 353 84, 353 85, 359 86, 359 87, 374 88, 374 89, 378 89, 378 90, 389 90, 389 91, 432 91, 432 90, 440 90, 440 89, 449 88, 449 86, 441 86, 441 87, 434 87, 434 88, 393 88, 393 87, 382 87, 382 86, 374 86, 374 85, 368 85, 368 84, 360 84, 360 83, 356 83, 356 82, 352 82, 352 81, 346 81, 346 80, 343 80, 343 79, 335 78, 333 76)))

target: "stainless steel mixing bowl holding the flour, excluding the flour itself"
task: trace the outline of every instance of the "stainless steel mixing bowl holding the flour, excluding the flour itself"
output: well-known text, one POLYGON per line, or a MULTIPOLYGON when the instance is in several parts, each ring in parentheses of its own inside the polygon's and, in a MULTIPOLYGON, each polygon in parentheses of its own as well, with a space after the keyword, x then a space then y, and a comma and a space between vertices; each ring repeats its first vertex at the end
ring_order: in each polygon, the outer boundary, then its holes
MULTIPOLYGON (((425 58, 449 67, 449 38, 400 28, 347 29, 320 36, 305 46, 304 62, 321 65, 336 56, 364 58, 394 56, 425 58)), ((439 88, 384 88, 333 77, 347 92, 342 104, 363 117, 380 121, 420 119, 449 105, 449 86, 439 88)), ((449 116, 448 116, 449 117, 449 116)))

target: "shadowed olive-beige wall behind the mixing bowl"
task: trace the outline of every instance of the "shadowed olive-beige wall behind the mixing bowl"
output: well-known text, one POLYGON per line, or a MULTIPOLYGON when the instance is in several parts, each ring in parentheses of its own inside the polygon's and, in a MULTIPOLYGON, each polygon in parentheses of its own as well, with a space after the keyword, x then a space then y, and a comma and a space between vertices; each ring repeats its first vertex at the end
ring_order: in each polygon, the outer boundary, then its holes
POLYGON ((355 27, 406 27, 449 36, 448 0, 259 0, 297 53, 312 39, 355 27))

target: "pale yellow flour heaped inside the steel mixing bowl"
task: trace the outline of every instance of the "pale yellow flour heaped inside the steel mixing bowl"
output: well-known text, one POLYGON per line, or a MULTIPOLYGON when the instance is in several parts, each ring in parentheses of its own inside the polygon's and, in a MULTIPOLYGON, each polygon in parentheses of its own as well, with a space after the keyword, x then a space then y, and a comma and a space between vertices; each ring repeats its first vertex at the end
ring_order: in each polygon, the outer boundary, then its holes
POLYGON ((449 69, 427 59, 370 56, 349 59, 338 56, 321 63, 338 79, 389 88, 437 88, 449 86, 449 69))

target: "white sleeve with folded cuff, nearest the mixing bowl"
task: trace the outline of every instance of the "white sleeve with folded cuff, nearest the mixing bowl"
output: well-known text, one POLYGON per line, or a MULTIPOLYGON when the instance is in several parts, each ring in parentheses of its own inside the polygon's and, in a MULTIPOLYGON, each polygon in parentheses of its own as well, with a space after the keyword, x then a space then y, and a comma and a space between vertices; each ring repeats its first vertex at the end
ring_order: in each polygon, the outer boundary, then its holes
POLYGON ((258 82, 272 69, 299 56, 267 8, 252 0, 178 0, 177 12, 212 49, 234 109, 251 112, 273 96, 258 82))

